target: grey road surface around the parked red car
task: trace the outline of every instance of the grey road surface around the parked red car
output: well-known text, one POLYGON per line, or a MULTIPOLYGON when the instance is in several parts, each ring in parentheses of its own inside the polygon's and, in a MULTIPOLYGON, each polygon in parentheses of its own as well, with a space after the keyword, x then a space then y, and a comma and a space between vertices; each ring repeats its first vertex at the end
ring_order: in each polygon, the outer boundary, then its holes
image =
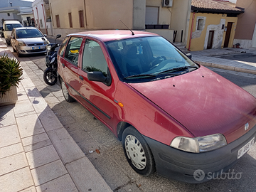
MULTIPOLYGON (((12 50, 11 46, 9 48, 12 50)), ((16 56, 16 53, 14 55, 16 56)), ((30 56, 26 60, 31 60, 38 65, 40 70, 33 68, 35 73, 41 73, 40 71, 46 68, 44 55, 30 56)), ((256 97, 255 76, 211 69, 256 97)), ((36 78, 31 78, 31 80, 113 191, 255 191, 256 144, 242 156, 238 164, 230 169, 228 175, 230 179, 227 176, 225 179, 217 178, 206 183, 189 184, 170 180, 157 174, 143 177, 129 166, 122 150, 122 144, 117 141, 114 134, 82 105, 78 102, 65 102, 58 85, 47 86, 43 82, 38 82, 36 78), (99 149, 100 154, 95 149, 99 149)))

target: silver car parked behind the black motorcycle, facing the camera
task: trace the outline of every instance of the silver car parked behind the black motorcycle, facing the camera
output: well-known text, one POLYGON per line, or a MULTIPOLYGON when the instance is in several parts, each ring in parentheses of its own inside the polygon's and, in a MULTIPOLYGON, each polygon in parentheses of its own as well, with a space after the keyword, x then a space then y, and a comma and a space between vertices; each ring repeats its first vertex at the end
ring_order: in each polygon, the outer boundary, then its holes
POLYGON ((18 57, 21 55, 46 53, 46 45, 50 42, 38 28, 14 28, 11 32, 11 46, 18 57))

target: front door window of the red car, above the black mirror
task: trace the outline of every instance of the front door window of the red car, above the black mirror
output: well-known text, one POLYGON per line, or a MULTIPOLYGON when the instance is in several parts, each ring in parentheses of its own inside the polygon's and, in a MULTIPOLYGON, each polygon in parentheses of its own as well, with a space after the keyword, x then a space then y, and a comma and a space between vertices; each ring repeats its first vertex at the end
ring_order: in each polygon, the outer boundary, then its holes
POLYGON ((82 55, 82 69, 88 72, 101 71, 107 77, 107 62, 99 43, 87 39, 82 55))

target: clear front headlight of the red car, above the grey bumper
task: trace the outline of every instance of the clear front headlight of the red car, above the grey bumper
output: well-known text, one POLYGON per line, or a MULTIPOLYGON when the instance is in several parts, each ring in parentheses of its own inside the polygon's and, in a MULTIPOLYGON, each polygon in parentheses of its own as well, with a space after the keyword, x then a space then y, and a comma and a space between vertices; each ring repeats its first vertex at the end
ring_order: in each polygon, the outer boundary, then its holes
POLYGON ((204 137, 176 137, 171 146, 191 153, 212 151, 225 146, 227 141, 223 134, 211 134, 204 137))

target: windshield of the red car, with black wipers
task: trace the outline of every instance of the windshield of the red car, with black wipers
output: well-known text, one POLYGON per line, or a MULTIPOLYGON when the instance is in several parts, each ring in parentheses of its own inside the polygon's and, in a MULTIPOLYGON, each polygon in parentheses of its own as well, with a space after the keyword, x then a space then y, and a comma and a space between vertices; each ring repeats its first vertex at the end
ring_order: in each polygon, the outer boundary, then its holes
POLYGON ((196 63, 161 36, 110 41, 106 45, 117 73, 124 81, 159 80, 198 68, 196 63))

